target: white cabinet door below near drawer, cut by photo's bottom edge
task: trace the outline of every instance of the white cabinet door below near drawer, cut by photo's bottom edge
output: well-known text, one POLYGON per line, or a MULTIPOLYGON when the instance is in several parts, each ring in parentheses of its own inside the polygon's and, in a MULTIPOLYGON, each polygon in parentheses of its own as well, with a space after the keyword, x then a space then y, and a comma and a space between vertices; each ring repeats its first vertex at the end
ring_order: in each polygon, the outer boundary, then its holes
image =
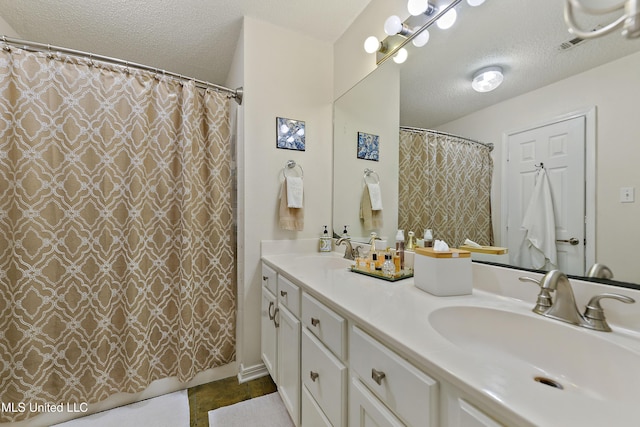
POLYGON ((404 427, 367 388, 353 378, 349 388, 350 427, 404 427))

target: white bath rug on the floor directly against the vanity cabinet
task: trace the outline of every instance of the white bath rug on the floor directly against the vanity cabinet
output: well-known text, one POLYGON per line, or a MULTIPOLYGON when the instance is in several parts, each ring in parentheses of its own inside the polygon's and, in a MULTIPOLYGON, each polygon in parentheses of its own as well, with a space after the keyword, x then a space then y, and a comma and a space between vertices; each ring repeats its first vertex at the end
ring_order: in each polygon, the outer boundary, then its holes
POLYGON ((294 427, 275 392, 209 411, 209 427, 294 427))

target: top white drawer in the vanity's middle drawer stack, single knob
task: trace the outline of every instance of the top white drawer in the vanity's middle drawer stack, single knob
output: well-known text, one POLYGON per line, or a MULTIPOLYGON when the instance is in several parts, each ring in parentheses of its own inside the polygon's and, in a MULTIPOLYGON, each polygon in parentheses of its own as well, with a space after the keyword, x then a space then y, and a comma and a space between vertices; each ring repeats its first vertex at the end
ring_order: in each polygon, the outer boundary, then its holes
POLYGON ((341 360, 346 358, 346 320, 307 293, 302 294, 302 323, 341 360))

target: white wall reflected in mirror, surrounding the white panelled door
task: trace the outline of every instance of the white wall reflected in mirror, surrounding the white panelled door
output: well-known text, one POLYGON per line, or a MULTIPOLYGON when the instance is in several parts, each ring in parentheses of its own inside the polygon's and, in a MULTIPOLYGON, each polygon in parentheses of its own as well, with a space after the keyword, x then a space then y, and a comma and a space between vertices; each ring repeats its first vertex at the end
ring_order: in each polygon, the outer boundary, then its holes
POLYGON ((640 53, 635 53, 439 128, 496 144, 493 213, 499 227, 503 134, 596 106, 596 260, 609 266, 616 279, 635 283, 640 283, 638 70, 640 53), (635 187, 636 202, 620 203, 620 187, 635 187))

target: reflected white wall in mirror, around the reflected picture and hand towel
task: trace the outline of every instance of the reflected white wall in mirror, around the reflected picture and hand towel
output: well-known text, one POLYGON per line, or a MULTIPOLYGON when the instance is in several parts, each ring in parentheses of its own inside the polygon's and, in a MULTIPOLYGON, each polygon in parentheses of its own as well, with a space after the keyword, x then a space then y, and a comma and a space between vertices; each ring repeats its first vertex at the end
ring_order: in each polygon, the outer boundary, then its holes
POLYGON ((369 168, 376 171, 382 193, 383 227, 376 232, 387 242, 394 241, 398 227, 399 67, 393 61, 384 63, 334 104, 333 227, 338 234, 344 225, 349 225, 352 238, 366 238, 371 232, 364 229, 359 215, 364 169, 369 168), (358 132, 380 137, 379 161, 357 158, 358 132))

